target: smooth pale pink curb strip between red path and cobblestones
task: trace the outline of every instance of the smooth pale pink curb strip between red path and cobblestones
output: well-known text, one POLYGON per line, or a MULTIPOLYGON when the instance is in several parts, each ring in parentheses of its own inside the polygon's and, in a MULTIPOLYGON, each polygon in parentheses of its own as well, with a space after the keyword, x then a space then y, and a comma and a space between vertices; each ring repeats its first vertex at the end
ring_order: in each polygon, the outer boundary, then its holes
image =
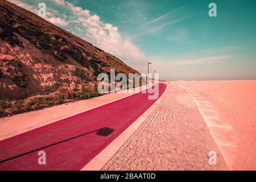
POLYGON ((115 153, 125 144, 125 142, 134 134, 134 132, 141 126, 147 117, 155 110, 159 103, 163 100, 168 91, 168 86, 162 96, 150 106, 136 121, 133 122, 122 134, 113 140, 104 150, 95 156, 88 164, 86 164, 81 171, 100 171, 102 167, 115 155, 115 153))

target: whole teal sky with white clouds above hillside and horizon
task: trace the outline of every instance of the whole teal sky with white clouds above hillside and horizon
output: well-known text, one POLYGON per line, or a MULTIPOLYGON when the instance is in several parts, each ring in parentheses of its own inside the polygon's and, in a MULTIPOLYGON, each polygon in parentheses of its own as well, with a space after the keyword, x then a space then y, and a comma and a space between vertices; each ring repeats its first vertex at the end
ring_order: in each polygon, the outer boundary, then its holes
POLYGON ((166 80, 256 78, 255 1, 10 0, 166 80), (217 17, 208 15, 209 3, 217 17))

